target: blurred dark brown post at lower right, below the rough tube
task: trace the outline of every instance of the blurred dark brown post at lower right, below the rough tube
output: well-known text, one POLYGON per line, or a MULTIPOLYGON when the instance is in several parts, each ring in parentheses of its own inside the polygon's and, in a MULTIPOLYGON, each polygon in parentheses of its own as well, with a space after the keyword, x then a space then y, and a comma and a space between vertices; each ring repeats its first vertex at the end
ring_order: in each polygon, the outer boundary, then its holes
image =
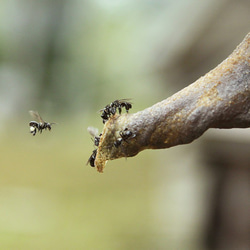
POLYGON ((250 144, 240 140, 206 140, 205 159, 216 180, 205 232, 207 249, 250 249, 249 150, 250 144))

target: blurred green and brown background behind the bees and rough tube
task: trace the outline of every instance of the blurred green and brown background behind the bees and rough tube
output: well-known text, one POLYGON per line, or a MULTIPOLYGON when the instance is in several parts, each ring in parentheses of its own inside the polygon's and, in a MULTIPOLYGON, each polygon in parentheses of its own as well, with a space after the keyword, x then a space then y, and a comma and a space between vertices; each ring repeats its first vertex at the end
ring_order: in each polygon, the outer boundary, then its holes
POLYGON ((1 249, 249 249, 249 130, 86 162, 98 110, 131 112, 217 66, 248 0, 0 1, 1 249), (28 110, 57 122, 33 137, 28 110))

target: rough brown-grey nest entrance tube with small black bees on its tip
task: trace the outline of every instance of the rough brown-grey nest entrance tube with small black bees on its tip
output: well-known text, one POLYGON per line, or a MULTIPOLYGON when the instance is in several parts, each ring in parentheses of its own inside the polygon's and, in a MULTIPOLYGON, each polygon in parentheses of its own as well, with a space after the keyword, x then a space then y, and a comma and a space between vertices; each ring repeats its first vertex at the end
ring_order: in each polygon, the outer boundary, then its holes
POLYGON ((249 126, 250 33, 221 64, 173 96, 137 113, 110 117, 102 131, 95 167, 103 172, 107 160, 190 143, 209 128, 249 126), (133 136, 115 147, 124 129, 133 136))

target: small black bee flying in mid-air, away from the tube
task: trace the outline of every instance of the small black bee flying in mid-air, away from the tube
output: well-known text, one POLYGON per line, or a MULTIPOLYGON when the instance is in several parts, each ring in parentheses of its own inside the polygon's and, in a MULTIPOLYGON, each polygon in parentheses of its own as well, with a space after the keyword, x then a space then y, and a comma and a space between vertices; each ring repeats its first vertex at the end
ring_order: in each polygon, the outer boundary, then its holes
POLYGON ((30 115, 35 118, 37 121, 30 121, 29 126, 30 126, 30 133, 36 135, 36 132, 42 133, 43 129, 45 130, 51 130, 51 125, 55 124, 54 122, 48 123, 45 122, 42 117, 38 114, 37 111, 29 111, 30 115))

